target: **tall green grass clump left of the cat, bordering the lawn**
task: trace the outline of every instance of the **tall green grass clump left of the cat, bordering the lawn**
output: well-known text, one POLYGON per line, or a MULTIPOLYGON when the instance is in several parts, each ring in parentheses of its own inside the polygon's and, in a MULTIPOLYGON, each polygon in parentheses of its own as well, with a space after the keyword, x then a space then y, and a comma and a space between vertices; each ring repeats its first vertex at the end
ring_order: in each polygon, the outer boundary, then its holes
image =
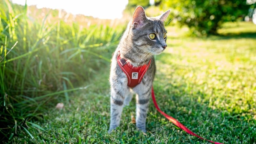
MULTIPOLYGON (((108 64, 123 28, 67 24, 50 12, 30 17, 28 7, 0 0, 0 141, 40 126, 47 106, 108 64)), ((83 86, 84 87, 84 86, 83 86)), ((64 98, 64 97, 63 97, 64 98)))

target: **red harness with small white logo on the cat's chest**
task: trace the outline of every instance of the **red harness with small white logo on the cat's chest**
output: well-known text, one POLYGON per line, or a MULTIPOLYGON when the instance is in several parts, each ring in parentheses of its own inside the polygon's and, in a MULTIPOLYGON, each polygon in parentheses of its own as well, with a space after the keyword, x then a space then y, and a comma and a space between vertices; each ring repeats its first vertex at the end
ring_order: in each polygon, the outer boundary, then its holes
POLYGON ((151 59, 146 65, 133 67, 133 65, 127 62, 124 58, 121 58, 120 54, 118 54, 117 63, 127 76, 128 87, 133 88, 133 87, 136 87, 141 82, 144 74, 146 73, 146 71, 148 70, 148 67, 150 66, 151 59))

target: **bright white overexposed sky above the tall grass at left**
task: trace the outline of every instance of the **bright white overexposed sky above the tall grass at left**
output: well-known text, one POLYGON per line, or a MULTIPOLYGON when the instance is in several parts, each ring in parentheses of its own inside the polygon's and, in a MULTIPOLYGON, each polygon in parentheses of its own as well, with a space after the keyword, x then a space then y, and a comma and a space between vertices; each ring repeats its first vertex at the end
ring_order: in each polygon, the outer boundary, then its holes
MULTIPOLYGON (((12 0, 13 3, 25 5, 25 0, 12 0)), ((128 0, 27 0, 27 5, 36 5, 38 9, 63 9, 72 14, 83 14, 101 19, 122 17, 122 11, 128 0)))

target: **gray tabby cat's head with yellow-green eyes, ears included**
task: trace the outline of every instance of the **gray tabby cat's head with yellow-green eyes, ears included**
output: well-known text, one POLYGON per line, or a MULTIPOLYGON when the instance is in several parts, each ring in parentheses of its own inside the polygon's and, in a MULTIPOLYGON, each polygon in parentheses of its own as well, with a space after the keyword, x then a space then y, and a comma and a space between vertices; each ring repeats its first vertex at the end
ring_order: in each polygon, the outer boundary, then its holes
POLYGON ((130 23, 133 45, 136 45, 141 52, 154 55, 164 51, 167 47, 167 31, 163 22, 169 13, 170 10, 167 10, 160 16, 149 18, 146 16, 144 9, 138 6, 130 23))

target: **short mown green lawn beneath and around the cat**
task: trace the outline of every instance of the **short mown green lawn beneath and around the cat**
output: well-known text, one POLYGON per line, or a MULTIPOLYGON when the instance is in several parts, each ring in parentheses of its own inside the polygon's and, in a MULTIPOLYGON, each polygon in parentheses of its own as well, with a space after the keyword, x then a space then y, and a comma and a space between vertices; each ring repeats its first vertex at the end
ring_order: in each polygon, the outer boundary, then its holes
MULTIPOLYGON (((162 111, 194 133, 230 144, 256 143, 256 25, 228 23, 221 35, 187 37, 187 29, 167 27, 167 49, 156 56, 154 90, 162 111)), ((114 51, 115 48, 111 49, 114 51)), ((110 57, 108 57, 110 59, 110 57)), ((11 143, 208 143, 190 136, 157 112, 150 101, 147 133, 131 116, 136 101, 122 113, 120 127, 108 134, 110 119, 107 62, 84 90, 69 93, 63 109, 49 107, 34 126, 18 129, 11 143)), ((55 104, 54 104, 55 105, 55 104)))

